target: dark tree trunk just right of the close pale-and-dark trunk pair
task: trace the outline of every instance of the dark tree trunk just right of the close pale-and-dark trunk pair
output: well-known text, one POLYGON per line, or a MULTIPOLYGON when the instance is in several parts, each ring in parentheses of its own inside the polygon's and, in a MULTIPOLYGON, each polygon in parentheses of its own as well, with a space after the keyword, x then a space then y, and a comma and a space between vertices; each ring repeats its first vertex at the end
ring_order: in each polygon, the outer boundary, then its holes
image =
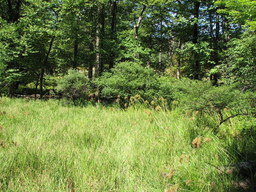
MULTIPOLYGON (((111 5, 111 34, 110 39, 114 40, 115 38, 115 28, 116 28, 116 1, 109 0, 109 3, 111 5)), ((109 58, 109 64, 108 69, 110 70, 114 66, 114 59, 115 59, 115 52, 113 49, 110 51, 110 58, 109 58)))

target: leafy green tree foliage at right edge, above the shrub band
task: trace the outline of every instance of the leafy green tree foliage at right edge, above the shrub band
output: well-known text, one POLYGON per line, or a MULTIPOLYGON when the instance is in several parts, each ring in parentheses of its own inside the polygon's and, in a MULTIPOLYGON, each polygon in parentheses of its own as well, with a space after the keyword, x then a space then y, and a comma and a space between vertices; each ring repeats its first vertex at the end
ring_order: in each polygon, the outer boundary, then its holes
POLYGON ((234 38, 228 43, 229 48, 225 52, 227 59, 223 60, 222 64, 217 67, 223 80, 228 84, 237 82, 240 87, 255 87, 255 41, 256 35, 252 32, 246 32, 241 38, 234 38))

